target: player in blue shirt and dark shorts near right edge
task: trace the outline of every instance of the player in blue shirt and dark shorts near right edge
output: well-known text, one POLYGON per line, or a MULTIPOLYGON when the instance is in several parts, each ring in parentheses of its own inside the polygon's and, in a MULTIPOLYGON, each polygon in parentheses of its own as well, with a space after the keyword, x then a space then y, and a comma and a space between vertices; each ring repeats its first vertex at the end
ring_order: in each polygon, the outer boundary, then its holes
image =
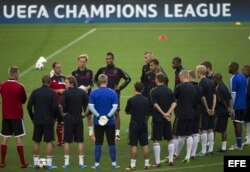
POLYGON ((246 90, 247 81, 244 75, 238 72, 239 64, 231 62, 228 67, 228 72, 232 74, 230 78, 230 91, 233 100, 234 112, 232 112, 232 119, 234 122, 235 136, 236 136, 236 150, 243 150, 242 146, 242 123, 244 122, 244 111, 246 110, 246 90))

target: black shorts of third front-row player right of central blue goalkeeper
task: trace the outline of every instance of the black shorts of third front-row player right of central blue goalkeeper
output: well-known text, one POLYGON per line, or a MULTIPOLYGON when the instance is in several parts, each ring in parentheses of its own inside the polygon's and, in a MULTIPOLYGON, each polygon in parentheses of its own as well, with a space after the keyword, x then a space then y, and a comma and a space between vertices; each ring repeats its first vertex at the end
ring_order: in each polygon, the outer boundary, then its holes
POLYGON ((178 118, 177 136, 191 136, 193 134, 193 119, 178 118))

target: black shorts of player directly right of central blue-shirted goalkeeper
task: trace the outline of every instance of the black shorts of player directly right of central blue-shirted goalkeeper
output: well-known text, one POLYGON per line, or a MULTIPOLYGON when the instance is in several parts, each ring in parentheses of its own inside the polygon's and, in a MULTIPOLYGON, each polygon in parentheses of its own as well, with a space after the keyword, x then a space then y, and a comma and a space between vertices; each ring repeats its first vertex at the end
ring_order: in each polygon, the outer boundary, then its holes
POLYGON ((138 146, 138 141, 141 146, 148 145, 148 130, 146 129, 137 129, 136 126, 129 127, 129 145, 138 146))

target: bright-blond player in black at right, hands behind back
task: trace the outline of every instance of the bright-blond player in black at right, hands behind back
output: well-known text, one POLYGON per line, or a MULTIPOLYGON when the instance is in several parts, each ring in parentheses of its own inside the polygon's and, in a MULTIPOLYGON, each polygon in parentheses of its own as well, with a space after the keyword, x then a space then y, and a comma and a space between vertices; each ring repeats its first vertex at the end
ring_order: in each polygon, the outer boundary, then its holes
POLYGON ((204 65, 196 66, 196 73, 200 78, 199 86, 201 87, 202 97, 199 110, 201 112, 201 152, 199 156, 213 154, 214 149, 214 112, 216 105, 216 94, 213 83, 206 77, 206 67, 204 65), (209 143, 207 151, 207 141, 209 143))

